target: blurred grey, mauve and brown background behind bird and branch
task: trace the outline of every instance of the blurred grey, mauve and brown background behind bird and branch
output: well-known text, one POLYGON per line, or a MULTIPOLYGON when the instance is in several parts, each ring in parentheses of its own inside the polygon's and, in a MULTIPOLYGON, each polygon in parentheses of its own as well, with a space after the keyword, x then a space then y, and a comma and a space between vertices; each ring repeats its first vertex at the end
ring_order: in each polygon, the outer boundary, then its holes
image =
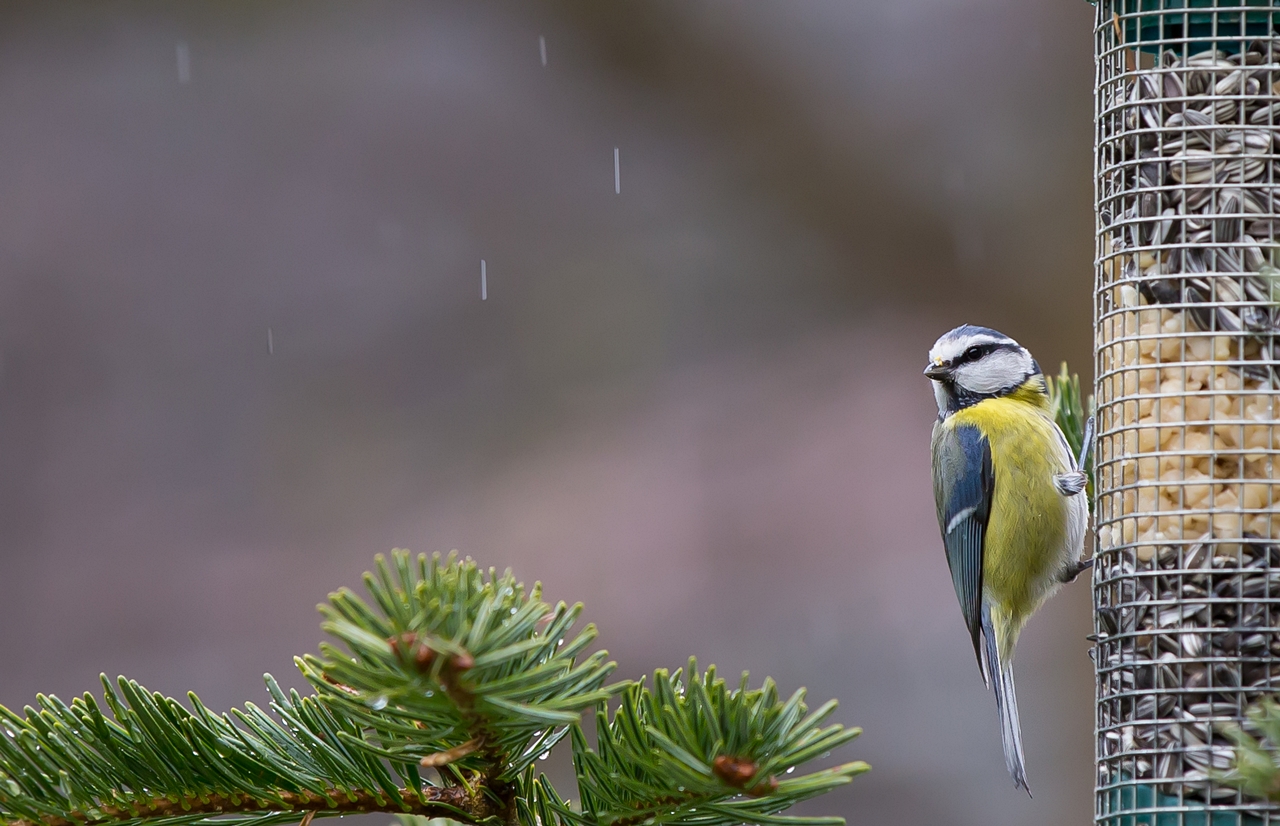
POLYGON ((972 321, 1088 380, 1091 26, 4 4, 0 703, 102 671, 264 702, 374 553, 457 548, 584 601, 620 676, 698 654, 838 698, 865 734, 833 759, 874 768, 809 813, 1087 821, 1088 587, 1020 645, 1029 800, 920 370, 972 321))

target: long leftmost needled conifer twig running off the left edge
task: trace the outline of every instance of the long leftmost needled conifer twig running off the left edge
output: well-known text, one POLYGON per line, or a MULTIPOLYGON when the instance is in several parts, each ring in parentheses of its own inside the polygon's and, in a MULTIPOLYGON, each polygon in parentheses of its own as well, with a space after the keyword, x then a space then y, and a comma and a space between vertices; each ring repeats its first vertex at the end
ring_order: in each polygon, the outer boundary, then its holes
POLYGON ((111 717, 90 694, 69 706, 40 695, 24 716, 0 707, 0 820, 188 823, 246 813, 219 823, 257 823, 399 811, 484 823, 499 814, 462 788, 399 788, 374 753, 346 748, 358 725, 314 697, 285 695, 270 676, 280 722, 253 704, 215 716, 195 694, 187 711, 123 677, 102 688, 111 717))

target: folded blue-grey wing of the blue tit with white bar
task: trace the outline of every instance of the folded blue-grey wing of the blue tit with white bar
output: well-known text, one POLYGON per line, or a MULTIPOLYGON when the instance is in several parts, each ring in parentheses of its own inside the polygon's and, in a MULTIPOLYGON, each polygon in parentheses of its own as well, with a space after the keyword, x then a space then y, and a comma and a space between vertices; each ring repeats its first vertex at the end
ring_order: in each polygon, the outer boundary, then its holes
POLYGON ((982 556, 996 490, 991 444, 973 425, 933 425, 933 496, 973 651, 982 666, 982 556))

